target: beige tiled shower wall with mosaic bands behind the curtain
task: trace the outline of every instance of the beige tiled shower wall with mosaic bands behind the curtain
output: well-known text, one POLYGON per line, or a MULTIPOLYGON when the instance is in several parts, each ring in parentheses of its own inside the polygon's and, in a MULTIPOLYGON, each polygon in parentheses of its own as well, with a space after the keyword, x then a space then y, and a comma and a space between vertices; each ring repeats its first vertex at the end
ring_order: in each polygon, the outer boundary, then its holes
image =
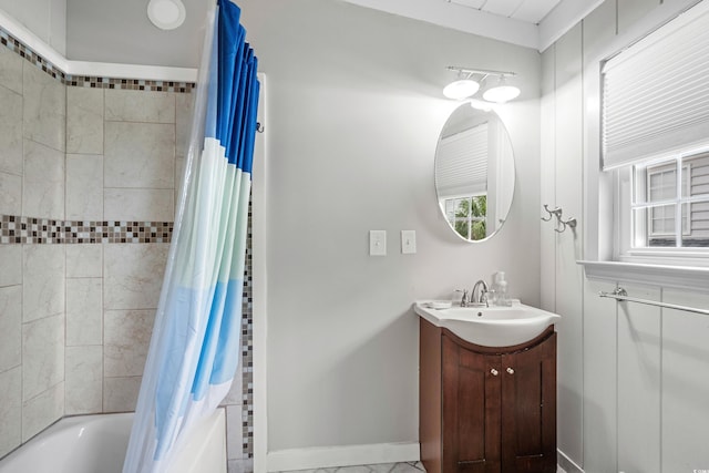
MULTIPOLYGON (((63 415, 135 409, 192 84, 69 78, 0 39, 2 456, 63 415)), ((240 471, 253 435, 246 280, 246 379, 225 401, 240 471)))

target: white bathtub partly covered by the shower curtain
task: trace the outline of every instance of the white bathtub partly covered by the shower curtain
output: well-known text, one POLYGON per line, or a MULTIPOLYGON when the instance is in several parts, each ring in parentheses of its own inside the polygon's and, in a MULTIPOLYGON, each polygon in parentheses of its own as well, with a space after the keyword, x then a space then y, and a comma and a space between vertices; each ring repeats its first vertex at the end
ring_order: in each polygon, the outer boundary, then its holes
MULTIPOLYGON (((0 473, 121 473, 133 413, 64 418, 0 461, 0 473)), ((223 409, 191 432, 169 473, 226 473, 223 409)))

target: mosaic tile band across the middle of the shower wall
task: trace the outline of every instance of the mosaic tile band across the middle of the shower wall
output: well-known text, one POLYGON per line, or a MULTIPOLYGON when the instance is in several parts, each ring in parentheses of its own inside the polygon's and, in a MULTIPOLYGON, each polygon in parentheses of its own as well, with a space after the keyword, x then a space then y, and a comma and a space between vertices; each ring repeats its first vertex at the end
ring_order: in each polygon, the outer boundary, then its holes
POLYGON ((172 222, 54 220, 0 215, 0 244, 169 243, 172 222))

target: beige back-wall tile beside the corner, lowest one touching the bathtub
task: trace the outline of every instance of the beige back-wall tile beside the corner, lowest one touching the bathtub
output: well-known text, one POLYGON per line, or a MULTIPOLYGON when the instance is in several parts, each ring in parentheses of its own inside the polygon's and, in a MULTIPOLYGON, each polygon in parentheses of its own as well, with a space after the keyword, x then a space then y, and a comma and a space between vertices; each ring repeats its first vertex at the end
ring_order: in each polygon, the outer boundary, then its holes
POLYGON ((89 414, 103 409, 103 349, 66 347, 64 413, 89 414))

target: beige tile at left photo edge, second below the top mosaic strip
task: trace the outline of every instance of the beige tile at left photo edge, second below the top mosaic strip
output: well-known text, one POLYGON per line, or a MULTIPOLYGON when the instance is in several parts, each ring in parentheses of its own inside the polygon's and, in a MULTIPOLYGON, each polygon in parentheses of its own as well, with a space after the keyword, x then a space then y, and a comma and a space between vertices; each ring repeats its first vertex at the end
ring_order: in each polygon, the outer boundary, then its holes
POLYGON ((0 86, 0 171, 22 175, 22 95, 0 86))

